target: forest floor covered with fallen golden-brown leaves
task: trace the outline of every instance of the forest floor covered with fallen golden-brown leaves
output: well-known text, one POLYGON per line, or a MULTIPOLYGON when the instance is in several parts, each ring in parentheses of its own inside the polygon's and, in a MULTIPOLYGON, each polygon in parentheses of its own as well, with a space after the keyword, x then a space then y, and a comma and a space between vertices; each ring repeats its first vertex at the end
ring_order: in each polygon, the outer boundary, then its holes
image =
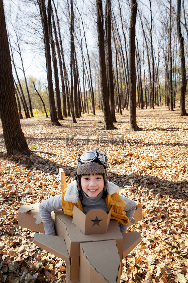
POLYGON ((142 221, 128 228, 142 241, 123 260, 121 282, 187 282, 188 117, 180 117, 179 108, 137 110, 143 131, 129 132, 127 111, 116 115, 118 129, 108 131, 101 130, 103 113, 96 114, 82 115, 77 124, 66 118, 62 127, 45 117, 21 120, 30 157, 6 155, 0 125, 0 281, 66 282, 64 261, 33 243, 34 231, 18 226, 18 211, 60 194, 58 168, 68 184, 78 156, 98 148, 109 158, 109 181, 143 209, 142 221))

